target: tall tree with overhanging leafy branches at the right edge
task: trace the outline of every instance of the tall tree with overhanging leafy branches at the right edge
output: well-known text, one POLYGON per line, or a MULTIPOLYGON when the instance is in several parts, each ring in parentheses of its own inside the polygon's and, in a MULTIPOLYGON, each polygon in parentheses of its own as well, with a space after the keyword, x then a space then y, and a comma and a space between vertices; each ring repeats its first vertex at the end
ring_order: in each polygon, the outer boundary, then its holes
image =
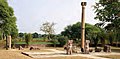
MULTIPOLYGON (((120 2, 119 0, 99 0, 94 6, 96 17, 107 31, 114 32, 114 39, 118 41, 120 30, 120 2), (109 22, 109 23, 108 23, 109 22)), ((111 40, 112 43, 112 40, 111 40)))

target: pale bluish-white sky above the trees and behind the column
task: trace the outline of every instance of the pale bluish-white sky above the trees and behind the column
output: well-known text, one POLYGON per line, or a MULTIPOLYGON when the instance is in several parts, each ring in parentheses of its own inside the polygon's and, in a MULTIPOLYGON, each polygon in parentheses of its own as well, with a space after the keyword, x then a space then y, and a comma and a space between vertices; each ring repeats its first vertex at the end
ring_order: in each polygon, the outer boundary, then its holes
MULTIPOLYGON (((95 24, 92 5, 96 0, 86 0, 85 22, 95 24)), ((8 0, 17 17, 17 27, 23 33, 43 33, 40 26, 45 22, 56 23, 55 34, 68 25, 81 22, 81 0, 8 0)))

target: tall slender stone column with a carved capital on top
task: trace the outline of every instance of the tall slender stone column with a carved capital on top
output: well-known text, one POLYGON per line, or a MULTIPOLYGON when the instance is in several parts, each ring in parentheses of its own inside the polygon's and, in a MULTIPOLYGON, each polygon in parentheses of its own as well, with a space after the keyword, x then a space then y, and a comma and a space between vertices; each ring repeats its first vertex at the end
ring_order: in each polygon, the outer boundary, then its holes
POLYGON ((85 6, 86 2, 82 2, 82 18, 81 18, 81 51, 84 52, 85 46, 85 6))

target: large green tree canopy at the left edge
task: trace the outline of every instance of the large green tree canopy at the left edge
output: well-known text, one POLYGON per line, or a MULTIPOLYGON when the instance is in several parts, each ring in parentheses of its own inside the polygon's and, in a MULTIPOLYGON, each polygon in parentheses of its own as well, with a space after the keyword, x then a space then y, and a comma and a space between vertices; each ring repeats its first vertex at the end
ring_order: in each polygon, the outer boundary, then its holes
POLYGON ((14 38, 18 35, 16 17, 7 0, 0 0, 0 30, 5 36, 11 35, 14 38))

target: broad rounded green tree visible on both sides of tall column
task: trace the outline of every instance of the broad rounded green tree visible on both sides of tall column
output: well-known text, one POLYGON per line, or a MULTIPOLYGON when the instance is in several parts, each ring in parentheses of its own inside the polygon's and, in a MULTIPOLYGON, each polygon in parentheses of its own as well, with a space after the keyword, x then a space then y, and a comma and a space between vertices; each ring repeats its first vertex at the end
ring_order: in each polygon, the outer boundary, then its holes
MULTIPOLYGON (((85 25, 86 25, 85 26, 86 39, 88 40, 97 39, 96 34, 100 33, 101 29, 99 27, 87 23, 85 25)), ((65 30, 61 32, 61 34, 63 36, 67 36, 69 39, 73 39, 76 42, 80 41, 79 39, 81 38, 81 23, 77 22, 76 24, 67 26, 65 30)))

